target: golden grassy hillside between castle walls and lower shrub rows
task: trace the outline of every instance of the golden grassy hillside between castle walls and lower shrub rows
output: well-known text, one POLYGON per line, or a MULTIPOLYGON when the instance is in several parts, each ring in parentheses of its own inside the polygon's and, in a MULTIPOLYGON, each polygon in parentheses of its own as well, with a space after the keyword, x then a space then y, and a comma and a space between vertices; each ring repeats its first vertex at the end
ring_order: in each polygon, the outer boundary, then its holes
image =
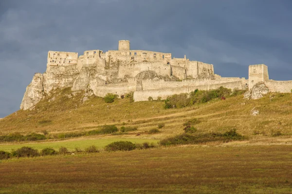
MULTIPOLYGON (((2 135, 12 132, 61 133, 99 129, 102 125, 137 127, 124 136, 162 139, 183 132, 183 123, 197 118, 198 131, 237 132, 252 138, 292 135, 292 94, 270 94, 257 100, 243 96, 212 100, 185 108, 164 109, 164 101, 129 102, 128 98, 115 99, 107 104, 101 97, 89 97, 83 103, 82 92, 70 89, 55 90, 41 100, 32 111, 19 110, 0 120, 2 135), (74 94, 74 95, 73 95, 74 94), (108 107, 109 106, 109 107, 108 107), (256 116, 252 110, 259 111, 256 116), (158 134, 143 133, 164 124, 158 134), (139 137, 137 133, 140 134, 139 137)), ((108 135, 110 138, 112 135, 108 135)), ((116 136, 115 136, 116 137, 116 136)))

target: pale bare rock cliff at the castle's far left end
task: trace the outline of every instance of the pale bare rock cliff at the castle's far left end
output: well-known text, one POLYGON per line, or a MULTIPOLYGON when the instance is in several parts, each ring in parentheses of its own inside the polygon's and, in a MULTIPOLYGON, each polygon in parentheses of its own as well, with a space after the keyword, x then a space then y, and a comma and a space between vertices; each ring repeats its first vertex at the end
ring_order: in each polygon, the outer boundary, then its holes
POLYGON ((41 73, 36 73, 32 82, 26 87, 20 109, 33 109, 43 98, 43 91, 43 75, 41 73))

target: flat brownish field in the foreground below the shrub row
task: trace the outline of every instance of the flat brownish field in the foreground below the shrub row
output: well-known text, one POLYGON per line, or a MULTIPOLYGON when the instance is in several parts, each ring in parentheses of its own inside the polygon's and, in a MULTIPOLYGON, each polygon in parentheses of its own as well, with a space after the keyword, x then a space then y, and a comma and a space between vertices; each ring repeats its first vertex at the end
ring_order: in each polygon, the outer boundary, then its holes
POLYGON ((0 193, 291 194, 291 146, 179 146, 1 161, 0 193))

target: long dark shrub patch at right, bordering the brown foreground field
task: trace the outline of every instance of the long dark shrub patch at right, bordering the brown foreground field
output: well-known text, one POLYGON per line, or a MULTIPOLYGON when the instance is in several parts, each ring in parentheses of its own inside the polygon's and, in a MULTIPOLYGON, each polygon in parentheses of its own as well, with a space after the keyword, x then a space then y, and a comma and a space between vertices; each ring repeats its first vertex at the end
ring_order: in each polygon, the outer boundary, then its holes
POLYGON ((246 137, 238 134, 236 129, 226 131, 224 133, 199 133, 196 135, 190 133, 183 133, 174 137, 166 138, 160 141, 162 146, 170 145, 186 145, 186 144, 203 144, 207 142, 230 142, 245 140, 246 137))

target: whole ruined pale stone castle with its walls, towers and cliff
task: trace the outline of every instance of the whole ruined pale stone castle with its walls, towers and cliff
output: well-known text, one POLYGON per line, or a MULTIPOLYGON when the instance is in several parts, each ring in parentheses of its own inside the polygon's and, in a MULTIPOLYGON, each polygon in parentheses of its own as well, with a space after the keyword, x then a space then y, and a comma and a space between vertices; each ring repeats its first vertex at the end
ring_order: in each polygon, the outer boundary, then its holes
POLYGON ((199 90, 252 88, 263 81, 270 92, 290 92, 292 81, 269 80, 266 65, 250 65, 249 80, 222 78, 214 74, 213 65, 184 58, 172 58, 171 53, 130 50, 128 40, 120 40, 118 50, 86 50, 76 52, 49 51, 47 69, 36 73, 28 85, 20 109, 32 109, 56 88, 72 91, 91 90, 95 96, 108 93, 118 96, 134 92, 135 101, 148 97, 165 99, 169 95, 199 90))

